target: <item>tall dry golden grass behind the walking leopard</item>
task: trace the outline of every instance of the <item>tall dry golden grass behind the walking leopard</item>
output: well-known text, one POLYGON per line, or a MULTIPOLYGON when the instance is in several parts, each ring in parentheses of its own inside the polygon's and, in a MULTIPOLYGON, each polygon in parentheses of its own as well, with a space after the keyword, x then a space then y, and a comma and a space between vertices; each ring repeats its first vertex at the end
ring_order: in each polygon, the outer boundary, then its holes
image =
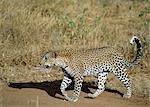
POLYGON ((149 31, 149 0, 0 0, 0 79, 34 81, 23 68, 48 50, 113 46, 131 60, 129 39, 138 34, 143 58, 129 74, 134 93, 149 95, 149 31))

